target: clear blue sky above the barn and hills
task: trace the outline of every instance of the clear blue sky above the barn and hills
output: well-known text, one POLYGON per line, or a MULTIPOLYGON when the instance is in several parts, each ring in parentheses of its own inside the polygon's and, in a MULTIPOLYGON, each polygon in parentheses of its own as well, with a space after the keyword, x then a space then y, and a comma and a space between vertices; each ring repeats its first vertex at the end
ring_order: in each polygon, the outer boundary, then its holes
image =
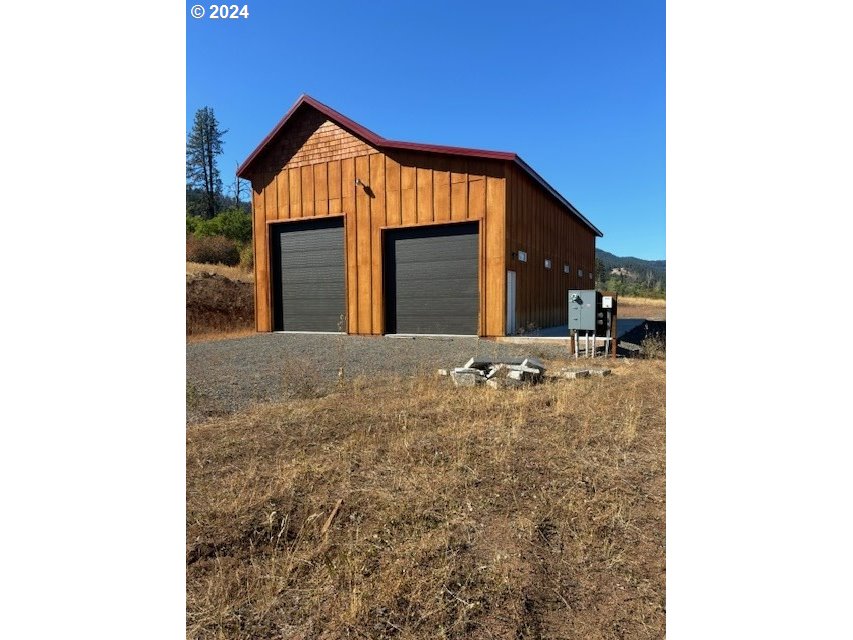
POLYGON ((599 248, 666 257, 662 0, 192 4, 187 129, 203 106, 228 129, 224 183, 307 93, 386 138, 514 151, 599 248))

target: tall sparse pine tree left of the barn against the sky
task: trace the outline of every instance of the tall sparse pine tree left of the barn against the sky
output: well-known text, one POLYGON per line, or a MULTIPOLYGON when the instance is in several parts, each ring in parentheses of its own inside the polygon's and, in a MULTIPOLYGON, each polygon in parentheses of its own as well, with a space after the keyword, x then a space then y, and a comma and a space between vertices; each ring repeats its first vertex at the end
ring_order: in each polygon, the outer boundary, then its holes
POLYGON ((216 156, 222 154, 222 131, 213 109, 203 107, 195 112, 193 128, 187 135, 187 188, 204 192, 204 216, 216 215, 217 200, 222 195, 222 179, 216 156))

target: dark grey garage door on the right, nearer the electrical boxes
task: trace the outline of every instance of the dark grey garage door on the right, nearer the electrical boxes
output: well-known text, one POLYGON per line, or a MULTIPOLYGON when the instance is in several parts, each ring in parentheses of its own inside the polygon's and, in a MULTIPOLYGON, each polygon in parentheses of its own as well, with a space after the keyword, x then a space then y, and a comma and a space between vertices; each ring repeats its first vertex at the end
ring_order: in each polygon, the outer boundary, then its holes
POLYGON ((387 231, 387 333, 477 335, 477 224, 387 231))

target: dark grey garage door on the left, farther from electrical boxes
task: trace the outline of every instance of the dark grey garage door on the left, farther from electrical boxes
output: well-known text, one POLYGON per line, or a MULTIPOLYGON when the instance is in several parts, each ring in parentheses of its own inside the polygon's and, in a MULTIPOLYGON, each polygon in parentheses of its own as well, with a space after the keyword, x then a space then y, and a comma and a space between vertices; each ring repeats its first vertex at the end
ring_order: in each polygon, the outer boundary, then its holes
POLYGON ((273 320, 276 331, 343 331, 343 218, 274 225, 273 320))

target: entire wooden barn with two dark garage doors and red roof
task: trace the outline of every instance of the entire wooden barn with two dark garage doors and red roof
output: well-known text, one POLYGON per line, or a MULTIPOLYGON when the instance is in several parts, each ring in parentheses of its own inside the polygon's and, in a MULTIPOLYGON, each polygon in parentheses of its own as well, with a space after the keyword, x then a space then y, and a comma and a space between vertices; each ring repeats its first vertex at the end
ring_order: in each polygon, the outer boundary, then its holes
POLYGON ((303 95, 251 181, 258 331, 565 325, 602 233, 514 153, 386 140, 303 95))

